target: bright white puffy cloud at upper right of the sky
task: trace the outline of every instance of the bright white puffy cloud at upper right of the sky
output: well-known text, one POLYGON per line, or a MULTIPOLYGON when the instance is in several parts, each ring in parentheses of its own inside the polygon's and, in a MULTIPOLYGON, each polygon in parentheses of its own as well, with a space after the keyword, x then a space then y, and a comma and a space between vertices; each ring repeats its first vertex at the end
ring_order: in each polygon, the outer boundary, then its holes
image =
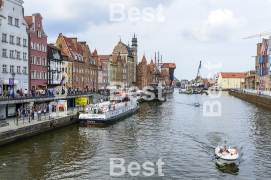
POLYGON ((201 41, 228 40, 243 22, 244 19, 235 18, 231 10, 217 9, 210 12, 202 28, 193 28, 190 32, 184 30, 182 35, 192 36, 201 41))

